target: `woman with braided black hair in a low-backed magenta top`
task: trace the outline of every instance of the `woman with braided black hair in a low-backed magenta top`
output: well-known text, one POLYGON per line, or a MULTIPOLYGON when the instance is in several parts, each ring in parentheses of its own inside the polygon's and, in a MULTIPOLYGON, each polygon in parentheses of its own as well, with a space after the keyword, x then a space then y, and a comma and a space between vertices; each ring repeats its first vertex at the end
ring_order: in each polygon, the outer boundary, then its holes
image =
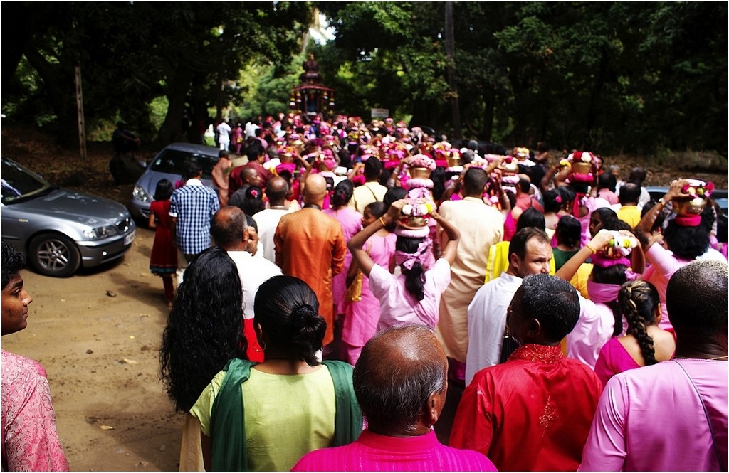
POLYGON ((628 331, 600 350, 595 374, 603 386, 617 373, 671 359, 676 350, 674 335, 658 327, 660 298, 655 286, 642 279, 628 281, 620 287, 618 302, 628 331))

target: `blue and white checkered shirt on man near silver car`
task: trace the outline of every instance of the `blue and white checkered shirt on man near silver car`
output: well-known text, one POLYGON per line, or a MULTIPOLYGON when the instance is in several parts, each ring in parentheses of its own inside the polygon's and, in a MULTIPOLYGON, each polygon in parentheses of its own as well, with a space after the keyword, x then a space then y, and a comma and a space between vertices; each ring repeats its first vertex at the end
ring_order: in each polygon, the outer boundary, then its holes
POLYGON ((210 247, 210 221, 220 208, 216 192, 198 182, 187 181, 170 198, 170 216, 177 218, 175 241, 184 254, 198 254, 210 247))

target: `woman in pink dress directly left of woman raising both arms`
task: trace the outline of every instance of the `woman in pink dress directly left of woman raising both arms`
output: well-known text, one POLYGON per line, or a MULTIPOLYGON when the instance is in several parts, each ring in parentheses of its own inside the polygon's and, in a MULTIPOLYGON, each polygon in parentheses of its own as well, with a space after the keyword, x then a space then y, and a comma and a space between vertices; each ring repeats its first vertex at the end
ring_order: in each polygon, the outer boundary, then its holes
MULTIPOLYGON (((383 202, 373 202, 364 208, 362 226, 367 227, 385 214, 387 207, 383 202)), ((390 267, 390 260, 395 253, 394 233, 387 228, 381 228, 364 243, 364 251, 373 259, 373 262, 381 267, 390 267)), ((351 254, 348 254, 351 260, 351 254)), ((350 278, 356 278, 356 271, 359 267, 355 262, 348 274, 350 278)), ((348 281, 351 284, 350 281, 348 281)), ((345 316, 342 328, 342 349, 344 359, 349 364, 356 364, 359 353, 367 340, 370 340, 377 332, 377 322, 380 319, 380 302, 370 290, 370 278, 362 274, 362 294, 359 300, 347 300, 344 302, 345 316)))

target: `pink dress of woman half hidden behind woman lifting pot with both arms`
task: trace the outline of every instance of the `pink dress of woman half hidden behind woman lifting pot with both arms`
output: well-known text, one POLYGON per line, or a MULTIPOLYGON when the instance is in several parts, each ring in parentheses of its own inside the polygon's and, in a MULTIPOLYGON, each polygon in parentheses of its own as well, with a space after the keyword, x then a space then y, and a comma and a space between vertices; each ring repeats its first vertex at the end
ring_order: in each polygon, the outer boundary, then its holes
MULTIPOLYGON (((373 235, 364 243, 362 249, 369 250, 370 258, 376 265, 389 267, 390 258, 395 252, 396 240, 397 235, 394 233, 387 236, 373 235)), ((377 322, 380 320, 380 302, 370 290, 370 278, 362 275, 362 300, 345 302, 345 305, 342 342, 346 351, 346 361, 354 365, 364 344, 377 332, 377 322)))

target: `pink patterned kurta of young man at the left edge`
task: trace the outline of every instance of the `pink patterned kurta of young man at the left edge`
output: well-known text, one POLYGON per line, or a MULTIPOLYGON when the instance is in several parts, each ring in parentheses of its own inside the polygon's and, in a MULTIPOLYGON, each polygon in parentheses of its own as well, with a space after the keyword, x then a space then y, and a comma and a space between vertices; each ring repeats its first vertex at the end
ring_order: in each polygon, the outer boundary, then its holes
POLYGON ((9 471, 67 472, 46 372, 38 361, 2 351, 3 463, 9 471))

